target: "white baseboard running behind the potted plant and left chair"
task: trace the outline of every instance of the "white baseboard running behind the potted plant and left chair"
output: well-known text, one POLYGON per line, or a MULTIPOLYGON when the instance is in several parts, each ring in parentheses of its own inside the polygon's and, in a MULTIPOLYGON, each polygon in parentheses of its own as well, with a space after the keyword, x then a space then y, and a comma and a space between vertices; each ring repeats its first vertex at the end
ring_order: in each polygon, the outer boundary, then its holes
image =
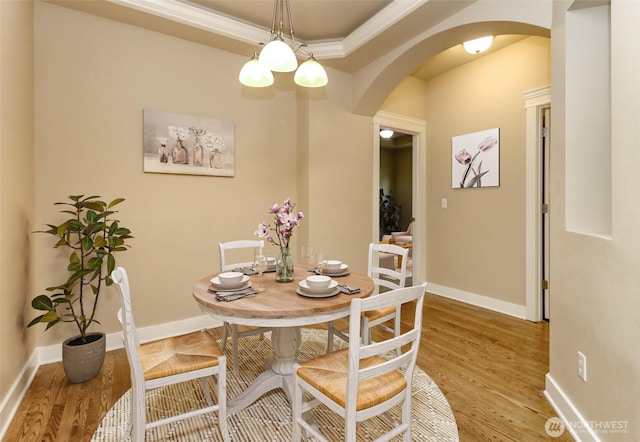
MULTIPOLYGON (((203 328, 215 328, 222 325, 222 322, 209 315, 196 316, 194 318, 180 321, 167 322, 164 324, 151 325, 149 327, 138 328, 140 342, 149 342, 170 336, 179 336, 203 328)), ((107 351, 122 348, 122 334, 107 334, 107 351)), ((31 357, 26 362, 22 371, 7 392, 7 396, 0 404, 0 440, 4 439, 5 432, 13 419, 22 398, 29 389, 31 381, 38 371, 38 367, 43 364, 60 362, 62 360, 62 344, 54 344, 46 347, 36 347, 31 357)))

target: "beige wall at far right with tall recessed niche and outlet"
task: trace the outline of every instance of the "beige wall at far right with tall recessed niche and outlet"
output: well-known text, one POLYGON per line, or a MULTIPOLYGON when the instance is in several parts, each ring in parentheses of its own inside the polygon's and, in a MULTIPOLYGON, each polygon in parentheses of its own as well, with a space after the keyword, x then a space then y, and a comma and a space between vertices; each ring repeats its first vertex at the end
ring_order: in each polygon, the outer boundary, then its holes
MULTIPOLYGON (((563 117, 567 89, 565 53, 567 3, 554 13, 551 183, 550 380, 582 416, 599 425, 626 425, 602 440, 640 440, 640 235, 637 165, 640 164, 640 3, 613 1, 611 8, 612 235, 602 238, 567 231, 563 117), (587 357, 587 382, 577 375, 577 353, 587 357), (626 424, 625 424, 626 423, 626 424)), ((580 75, 589 75, 582 72, 580 75)), ((581 91, 588 96, 589 91, 581 91)), ((575 97, 571 97, 575 98, 575 97)), ((598 107, 599 103, 592 103, 598 107)), ((606 103, 604 108, 606 108, 606 103)), ((597 122, 595 122, 597 123, 597 122)), ((584 120, 579 130, 590 131, 584 120)), ((589 155, 585 146, 584 154, 589 155)), ((591 440, 583 431, 581 437, 591 440)))

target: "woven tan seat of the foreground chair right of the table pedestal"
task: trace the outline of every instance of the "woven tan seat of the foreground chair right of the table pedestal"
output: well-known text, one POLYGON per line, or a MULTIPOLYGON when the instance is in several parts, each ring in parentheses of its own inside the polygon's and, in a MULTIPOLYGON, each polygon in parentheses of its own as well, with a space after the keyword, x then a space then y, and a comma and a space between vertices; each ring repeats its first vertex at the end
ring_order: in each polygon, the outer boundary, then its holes
MULTIPOLYGON (((360 368, 372 367, 385 362, 378 356, 360 360, 360 368)), ((319 356, 300 365, 297 374, 314 388, 345 406, 347 394, 347 373, 349 372, 349 349, 338 350, 319 356)), ((402 392, 407 382, 398 371, 366 379, 358 385, 356 410, 364 410, 402 392)))

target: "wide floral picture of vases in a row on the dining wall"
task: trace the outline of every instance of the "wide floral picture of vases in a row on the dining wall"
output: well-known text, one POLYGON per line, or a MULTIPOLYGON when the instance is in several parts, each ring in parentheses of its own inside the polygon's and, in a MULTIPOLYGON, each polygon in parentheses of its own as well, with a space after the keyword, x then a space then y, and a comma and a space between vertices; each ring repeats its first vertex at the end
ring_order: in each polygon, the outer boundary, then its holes
POLYGON ((232 177, 233 123, 144 110, 144 171, 232 177))

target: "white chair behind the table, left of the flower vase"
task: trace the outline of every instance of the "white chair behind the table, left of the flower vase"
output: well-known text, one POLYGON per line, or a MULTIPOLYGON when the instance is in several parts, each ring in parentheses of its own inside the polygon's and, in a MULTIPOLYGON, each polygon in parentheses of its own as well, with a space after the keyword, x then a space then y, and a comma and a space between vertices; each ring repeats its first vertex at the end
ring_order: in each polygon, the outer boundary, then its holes
MULTIPOLYGON (((251 240, 251 239, 239 239, 235 241, 221 242, 218 244, 220 251, 220 272, 227 272, 233 269, 242 267, 253 266, 253 257, 256 253, 262 254, 264 249, 264 240, 251 240), (240 252, 239 254, 232 251, 240 252), (246 261, 248 255, 247 252, 251 251, 251 260, 246 261), (231 254, 234 254, 235 259, 230 259, 231 254), (244 261, 243 261, 244 259, 244 261)), ((237 324, 230 324, 228 322, 223 323, 222 327, 222 350, 227 347, 227 339, 229 338, 229 331, 231 332, 231 358, 233 361, 233 373, 238 374, 238 339, 251 335, 261 335, 264 337, 264 333, 271 329, 265 327, 252 327, 246 330, 240 331, 237 324)))

